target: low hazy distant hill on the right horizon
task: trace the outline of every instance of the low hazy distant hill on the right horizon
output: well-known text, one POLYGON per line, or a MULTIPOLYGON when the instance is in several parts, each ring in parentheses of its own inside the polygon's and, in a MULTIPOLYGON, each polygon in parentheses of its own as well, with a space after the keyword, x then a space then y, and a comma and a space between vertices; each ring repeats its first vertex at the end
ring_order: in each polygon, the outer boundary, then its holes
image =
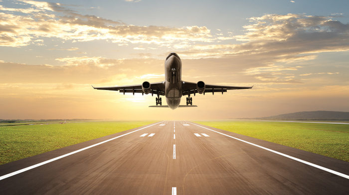
POLYGON ((308 111, 280 114, 261 118, 261 120, 349 120, 349 112, 337 111, 308 111))

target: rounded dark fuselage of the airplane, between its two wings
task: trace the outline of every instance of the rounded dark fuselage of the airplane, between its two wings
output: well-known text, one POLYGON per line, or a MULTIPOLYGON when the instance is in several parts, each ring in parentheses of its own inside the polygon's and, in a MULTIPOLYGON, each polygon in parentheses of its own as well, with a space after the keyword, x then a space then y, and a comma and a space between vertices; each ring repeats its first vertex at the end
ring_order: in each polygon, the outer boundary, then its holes
POLYGON ((165 97, 171 109, 179 106, 182 97, 182 62, 177 54, 170 53, 165 60, 165 97))

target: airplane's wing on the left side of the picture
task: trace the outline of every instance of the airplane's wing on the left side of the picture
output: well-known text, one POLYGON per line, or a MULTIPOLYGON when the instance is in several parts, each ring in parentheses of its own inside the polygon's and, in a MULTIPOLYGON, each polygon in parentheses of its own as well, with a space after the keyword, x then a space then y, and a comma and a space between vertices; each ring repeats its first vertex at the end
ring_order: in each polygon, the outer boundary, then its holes
MULTIPOLYGON (((141 85, 130 85, 130 86, 115 86, 115 87, 93 87, 93 89, 119 91, 120 93, 123 93, 124 95, 125 95, 125 93, 133 93, 133 95, 135 95, 135 93, 142 93, 142 95, 144 94, 144 91, 142 89, 142 84, 141 85)), ((160 96, 165 96, 165 85, 163 84, 163 82, 151 83, 149 90, 150 90, 149 93, 152 95, 159 94, 160 96)))

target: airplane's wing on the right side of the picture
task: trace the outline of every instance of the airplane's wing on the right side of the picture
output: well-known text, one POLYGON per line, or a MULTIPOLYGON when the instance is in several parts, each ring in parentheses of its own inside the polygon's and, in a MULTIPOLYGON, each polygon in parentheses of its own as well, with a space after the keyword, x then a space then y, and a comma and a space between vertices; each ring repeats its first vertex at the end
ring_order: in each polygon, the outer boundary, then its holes
MULTIPOLYGON (((244 89, 252 89, 252 87, 236 87, 236 86, 219 86, 219 85, 205 85, 202 82, 204 88, 203 94, 205 93, 212 93, 214 94, 215 92, 218 93, 224 93, 227 92, 227 90, 244 90, 244 89)), ((191 83, 191 82, 183 82, 182 83, 182 95, 190 95, 190 94, 199 94, 197 90, 197 83, 191 83)))

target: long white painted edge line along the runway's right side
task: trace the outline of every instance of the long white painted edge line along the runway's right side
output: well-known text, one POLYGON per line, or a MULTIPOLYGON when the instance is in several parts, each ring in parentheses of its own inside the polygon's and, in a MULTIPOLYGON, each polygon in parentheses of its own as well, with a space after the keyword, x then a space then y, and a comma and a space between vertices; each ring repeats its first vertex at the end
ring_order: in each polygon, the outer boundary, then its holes
POLYGON ((335 175, 344 177, 344 178, 346 178, 346 179, 349 179, 349 175, 346 175, 346 174, 343 174, 343 173, 340 173, 340 172, 337 172, 337 171, 334 171, 334 170, 331 170, 331 169, 328 169, 328 168, 325 168, 325 167, 322 167, 322 166, 319 166, 319 165, 316 165, 316 164, 313 164, 313 163, 310 163, 310 162, 307 162, 307 161, 304 161, 304 160, 301 160, 301 159, 299 159, 299 158, 296 158, 296 157, 293 157, 293 156, 290 156, 290 155, 287 155, 287 154, 284 154, 284 153, 281 153, 281 152, 278 152, 278 151, 275 151, 275 150, 272 150, 272 149, 269 149, 269 148, 266 148, 266 147, 263 147, 263 146, 260 146, 260 145, 257 145, 257 144, 254 144, 254 143, 251 143, 251 142, 248 142, 248 141, 245 141, 245 140, 242 140, 242 139, 233 137, 233 136, 230 136, 230 135, 226 135, 226 134, 221 133, 221 132, 218 132, 218 131, 214 131, 214 130, 212 130, 212 129, 209 129, 209 128, 206 128, 206 127, 203 127, 203 126, 194 124, 194 123, 191 123, 191 124, 196 125, 196 126, 199 126, 199 127, 202 127, 202 128, 204 128, 204 129, 207 129, 207 130, 210 130, 210 131, 213 131, 213 132, 216 132, 216 133, 219 133, 219 134, 221 134, 221 135, 224 135, 224 136, 227 136, 227 137, 230 137, 230 138, 233 138, 233 139, 236 139, 236 140, 245 142, 245 143, 247 143, 247 144, 256 146, 256 147, 258 147, 258 148, 262 148, 262 149, 264 149, 264 150, 268 150, 268 151, 273 152, 273 153, 275 153, 275 154, 278 154, 278 155, 281 155, 281 156, 290 158, 290 159, 292 159, 292 160, 295 160, 295 161, 304 163, 304 164, 306 164, 306 165, 309 165, 309 166, 312 166, 312 167, 321 169, 321 170, 323 170, 323 171, 327 171, 327 172, 329 172, 329 173, 332 173, 332 174, 335 174, 335 175))

